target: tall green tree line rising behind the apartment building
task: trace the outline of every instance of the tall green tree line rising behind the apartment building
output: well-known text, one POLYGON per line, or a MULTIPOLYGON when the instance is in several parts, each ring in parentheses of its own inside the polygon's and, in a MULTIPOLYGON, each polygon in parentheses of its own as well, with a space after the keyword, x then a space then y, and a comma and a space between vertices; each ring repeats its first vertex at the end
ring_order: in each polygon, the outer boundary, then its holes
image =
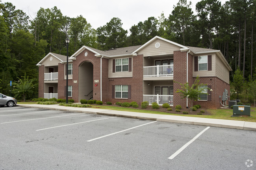
POLYGON ((38 79, 36 64, 49 52, 66 55, 67 37, 72 55, 83 45, 107 50, 141 45, 158 35, 184 46, 219 49, 234 71, 240 68, 243 78, 252 79, 256 0, 230 0, 223 5, 218 0, 201 0, 196 13, 191 5, 180 0, 169 16, 151 16, 125 30, 118 17, 95 29, 84 16, 70 18, 57 7, 40 8, 31 18, 15 4, 0 3, 0 91, 8 94, 9 81, 25 74, 38 79))

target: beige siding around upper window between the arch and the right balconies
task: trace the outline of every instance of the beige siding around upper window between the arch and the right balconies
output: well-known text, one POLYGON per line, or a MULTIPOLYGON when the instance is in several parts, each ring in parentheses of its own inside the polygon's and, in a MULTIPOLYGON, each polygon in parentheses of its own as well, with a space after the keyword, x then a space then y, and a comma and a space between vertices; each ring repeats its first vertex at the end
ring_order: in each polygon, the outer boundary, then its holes
MULTIPOLYGON (((121 71, 113 73, 113 59, 121 59, 121 58, 132 58, 132 56, 128 57, 119 57, 119 58, 111 58, 108 60, 108 77, 109 78, 117 78, 117 77, 132 77, 132 71, 121 71)), ((132 60, 133 61, 133 60, 132 60)), ((104 67, 104 66, 103 66, 104 67)))

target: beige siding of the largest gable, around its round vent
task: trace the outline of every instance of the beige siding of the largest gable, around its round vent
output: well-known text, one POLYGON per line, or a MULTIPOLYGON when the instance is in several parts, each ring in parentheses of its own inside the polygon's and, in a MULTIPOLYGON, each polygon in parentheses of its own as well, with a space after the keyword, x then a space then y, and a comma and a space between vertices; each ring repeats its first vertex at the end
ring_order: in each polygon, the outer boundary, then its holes
POLYGON ((158 56, 158 55, 169 55, 173 54, 173 51, 179 51, 180 47, 175 46, 169 42, 156 39, 150 44, 148 44, 145 48, 139 50, 137 53, 138 54, 143 54, 144 57, 148 56, 158 56), (156 48, 155 44, 159 42, 160 47, 156 48))

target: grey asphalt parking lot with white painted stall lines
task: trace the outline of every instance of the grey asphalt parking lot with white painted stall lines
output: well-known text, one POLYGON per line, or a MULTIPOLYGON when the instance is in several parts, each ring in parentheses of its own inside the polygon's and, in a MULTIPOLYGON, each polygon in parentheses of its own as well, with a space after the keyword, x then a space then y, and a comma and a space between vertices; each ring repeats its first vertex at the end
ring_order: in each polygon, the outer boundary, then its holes
POLYGON ((256 132, 0 108, 1 170, 256 169, 256 132))

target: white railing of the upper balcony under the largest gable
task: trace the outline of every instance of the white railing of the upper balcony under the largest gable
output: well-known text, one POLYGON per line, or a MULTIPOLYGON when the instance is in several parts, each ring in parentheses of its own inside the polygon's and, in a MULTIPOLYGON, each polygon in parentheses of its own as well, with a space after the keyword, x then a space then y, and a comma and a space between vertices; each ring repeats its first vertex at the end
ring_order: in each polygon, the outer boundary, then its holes
POLYGON ((173 65, 143 67, 144 77, 173 76, 173 65))

